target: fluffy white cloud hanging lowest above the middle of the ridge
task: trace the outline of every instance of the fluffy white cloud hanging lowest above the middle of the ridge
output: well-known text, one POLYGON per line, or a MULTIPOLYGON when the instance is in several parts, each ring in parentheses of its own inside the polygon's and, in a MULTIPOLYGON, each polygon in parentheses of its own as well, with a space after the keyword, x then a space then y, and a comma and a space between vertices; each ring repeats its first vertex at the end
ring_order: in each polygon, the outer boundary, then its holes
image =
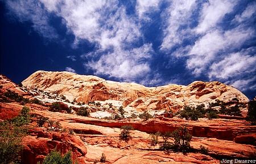
POLYGON ((151 44, 145 44, 128 51, 117 49, 113 53, 102 55, 98 61, 86 63, 85 67, 92 68, 96 75, 105 74, 133 81, 150 72, 146 59, 151 57, 151 46, 151 44))

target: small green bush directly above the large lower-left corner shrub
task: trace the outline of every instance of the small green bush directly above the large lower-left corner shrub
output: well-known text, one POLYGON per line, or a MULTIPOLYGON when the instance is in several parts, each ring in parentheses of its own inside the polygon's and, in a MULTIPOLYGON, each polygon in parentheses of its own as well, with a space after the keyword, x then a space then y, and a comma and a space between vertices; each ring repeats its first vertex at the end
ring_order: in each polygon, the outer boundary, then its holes
POLYGON ((23 106, 19 115, 11 120, 16 126, 23 126, 24 124, 30 123, 30 109, 27 106, 23 106))

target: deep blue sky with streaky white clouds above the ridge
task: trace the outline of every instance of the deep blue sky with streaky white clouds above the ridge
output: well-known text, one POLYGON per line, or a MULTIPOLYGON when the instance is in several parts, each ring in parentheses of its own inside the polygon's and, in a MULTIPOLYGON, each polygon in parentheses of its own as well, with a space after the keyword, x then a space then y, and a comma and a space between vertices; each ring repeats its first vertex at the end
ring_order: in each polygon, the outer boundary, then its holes
POLYGON ((1 74, 146 86, 221 81, 256 96, 256 1, 0 1, 1 74))

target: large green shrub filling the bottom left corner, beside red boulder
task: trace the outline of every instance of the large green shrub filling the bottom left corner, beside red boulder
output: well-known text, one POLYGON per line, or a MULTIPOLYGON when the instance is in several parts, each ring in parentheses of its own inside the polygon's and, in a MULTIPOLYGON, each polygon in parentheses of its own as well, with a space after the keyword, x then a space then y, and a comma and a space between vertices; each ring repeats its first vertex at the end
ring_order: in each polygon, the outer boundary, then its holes
POLYGON ((19 163, 22 139, 26 132, 25 126, 0 122, 0 163, 19 163))

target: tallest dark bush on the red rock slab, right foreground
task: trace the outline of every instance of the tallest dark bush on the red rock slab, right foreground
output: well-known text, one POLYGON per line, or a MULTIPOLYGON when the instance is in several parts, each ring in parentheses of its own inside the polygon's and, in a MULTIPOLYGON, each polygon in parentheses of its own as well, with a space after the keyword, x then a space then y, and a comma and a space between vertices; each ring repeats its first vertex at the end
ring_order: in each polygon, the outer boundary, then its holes
POLYGON ((189 133, 187 127, 180 127, 174 132, 172 132, 172 137, 174 137, 174 148, 179 152, 188 152, 190 147, 190 141, 192 135, 189 133))

